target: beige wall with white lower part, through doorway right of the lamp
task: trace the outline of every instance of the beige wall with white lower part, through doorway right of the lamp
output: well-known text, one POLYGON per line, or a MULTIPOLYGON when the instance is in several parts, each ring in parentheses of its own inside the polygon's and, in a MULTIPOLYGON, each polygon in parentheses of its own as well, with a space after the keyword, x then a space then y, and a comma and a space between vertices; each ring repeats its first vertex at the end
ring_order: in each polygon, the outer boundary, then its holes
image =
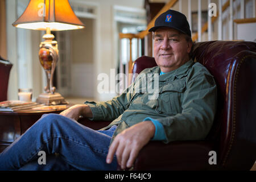
MULTIPOLYGON (((71 89, 69 97, 95 98, 94 37, 96 36, 95 19, 80 18, 85 24, 82 30, 71 31, 71 89)), ((96 51, 95 51, 96 52, 96 51)), ((97 52, 98 53, 98 52, 97 52)))

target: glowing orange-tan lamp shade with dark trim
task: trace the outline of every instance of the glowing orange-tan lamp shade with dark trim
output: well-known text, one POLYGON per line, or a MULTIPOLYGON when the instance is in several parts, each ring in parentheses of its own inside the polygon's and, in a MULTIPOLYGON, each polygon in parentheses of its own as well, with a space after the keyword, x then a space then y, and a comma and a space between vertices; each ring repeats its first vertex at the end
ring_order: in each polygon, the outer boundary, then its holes
POLYGON ((31 0, 13 26, 32 30, 49 27, 51 31, 60 31, 84 28, 84 23, 77 18, 68 0, 31 0))

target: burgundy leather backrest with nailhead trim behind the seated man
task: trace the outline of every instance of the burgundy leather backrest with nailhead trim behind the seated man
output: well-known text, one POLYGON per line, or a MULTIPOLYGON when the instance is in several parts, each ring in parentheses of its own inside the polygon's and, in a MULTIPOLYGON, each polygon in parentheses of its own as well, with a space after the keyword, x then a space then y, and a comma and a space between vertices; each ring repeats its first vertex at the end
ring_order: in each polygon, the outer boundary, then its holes
MULTIPOLYGON (((250 169, 256 160, 255 52, 254 42, 200 42, 193 48, 193 60, 217 84, 217 113, 207 140, 214 142, 218 166, 224 169, 250 169)), ((133 73, 155 65, 154 57, 139 57, 133 73)))

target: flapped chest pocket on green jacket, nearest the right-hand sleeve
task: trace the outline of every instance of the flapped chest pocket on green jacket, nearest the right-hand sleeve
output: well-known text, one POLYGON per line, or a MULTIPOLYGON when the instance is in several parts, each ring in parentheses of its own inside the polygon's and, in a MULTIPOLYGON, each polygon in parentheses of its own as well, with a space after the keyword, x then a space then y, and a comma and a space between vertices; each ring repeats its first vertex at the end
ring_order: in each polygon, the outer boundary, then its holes
POLYGON ((181 113, 181 100, 185 91, 185 81, 176 81, 159 88, 158 113, 175 115, 181 113))

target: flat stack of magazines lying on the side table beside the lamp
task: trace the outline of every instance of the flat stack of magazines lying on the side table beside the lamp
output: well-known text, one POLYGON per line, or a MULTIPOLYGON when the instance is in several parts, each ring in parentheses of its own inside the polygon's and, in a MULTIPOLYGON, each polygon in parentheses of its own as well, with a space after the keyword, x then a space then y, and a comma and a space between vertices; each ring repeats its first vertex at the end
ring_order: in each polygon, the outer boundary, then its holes
POLYGON ((0 111, 21 111, 28 110, 34 107, 43 106, 36 102, 27 102, 27 101, 2 101, 0 102, 0 111))

